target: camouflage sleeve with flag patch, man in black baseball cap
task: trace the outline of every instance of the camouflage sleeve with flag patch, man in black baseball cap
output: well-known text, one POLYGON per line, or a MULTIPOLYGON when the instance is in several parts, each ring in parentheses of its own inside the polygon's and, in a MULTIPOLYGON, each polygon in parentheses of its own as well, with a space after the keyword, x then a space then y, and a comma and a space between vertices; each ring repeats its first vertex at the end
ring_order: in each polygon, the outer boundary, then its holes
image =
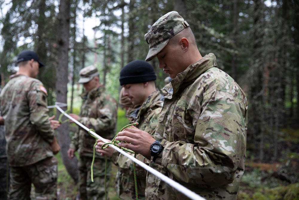
POLYGON ((54 139, 54 130, 51 128, 48 115, 47 91, 41 82, 32 83, 28 92, 28 104, 30 122, 35 125, 42 138, 51 144, 54 139))

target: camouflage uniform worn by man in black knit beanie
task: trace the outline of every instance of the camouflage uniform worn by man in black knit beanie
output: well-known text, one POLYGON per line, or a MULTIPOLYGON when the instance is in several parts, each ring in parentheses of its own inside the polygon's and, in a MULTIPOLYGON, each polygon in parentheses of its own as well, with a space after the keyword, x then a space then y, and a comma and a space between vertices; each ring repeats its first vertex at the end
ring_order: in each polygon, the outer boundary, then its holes
MULTIPOLYGON (((160 115, 163 105, 163 100, 164 97, 160 91, 156 89, 147 97, 142 106, 138 108, 137 119, 132 121, 132 123, 138 122, 139 124, 136 127, 153 136, 158 123, 158 116, 160 115)), ((134 156, 134 154, 129 154, 134 156)), ((141 154, 137 154, 136 158, 146 164, 149 164, 150 162, 141 154)), ((112 161, 118 166, 118 173, 116 175, 118 196, 121 199, 136 199, 133 161, 122 154, 118 154, 118 152, 113 154, 112 161)), ((144 191, 146 174, 147 171, 144 168, 136 165, 138 199, 145 199, 144 191)))

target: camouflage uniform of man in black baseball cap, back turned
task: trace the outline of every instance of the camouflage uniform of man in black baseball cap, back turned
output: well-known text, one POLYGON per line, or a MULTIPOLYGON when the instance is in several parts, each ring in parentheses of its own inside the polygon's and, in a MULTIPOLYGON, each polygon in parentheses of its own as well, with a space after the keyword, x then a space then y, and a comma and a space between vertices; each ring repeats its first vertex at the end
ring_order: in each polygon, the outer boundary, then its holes
POLYGON ((13 75, 0 95, 5 122, 7 160, 10 165, 10 199, 57 198, 57 159, 53 157, 46 90, 37 79, 13 75))

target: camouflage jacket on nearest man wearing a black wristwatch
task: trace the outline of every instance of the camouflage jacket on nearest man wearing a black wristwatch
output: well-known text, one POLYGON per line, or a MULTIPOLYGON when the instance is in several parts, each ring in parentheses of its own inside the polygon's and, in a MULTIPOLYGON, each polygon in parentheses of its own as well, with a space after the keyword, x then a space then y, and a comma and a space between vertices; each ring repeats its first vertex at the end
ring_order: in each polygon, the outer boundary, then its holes
MULTIPOLYGON (((244 173, 247 100, 209 54, 164 87, 155 139, 164 148, 150 166, 205 199, 237 199, 244 173)), ((188 199, 147 173, 147 199, 188 199)))

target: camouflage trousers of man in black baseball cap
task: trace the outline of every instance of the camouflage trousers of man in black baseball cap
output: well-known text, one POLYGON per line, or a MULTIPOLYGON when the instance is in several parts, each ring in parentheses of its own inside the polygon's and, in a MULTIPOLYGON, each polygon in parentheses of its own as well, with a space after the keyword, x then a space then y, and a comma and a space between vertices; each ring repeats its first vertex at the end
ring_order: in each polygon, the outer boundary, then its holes
POLYGON ((31 184, 36 200, 57 199, 57 159, 48 157, 23 167, 10 167, 11 200, 30 200, 31 184))

